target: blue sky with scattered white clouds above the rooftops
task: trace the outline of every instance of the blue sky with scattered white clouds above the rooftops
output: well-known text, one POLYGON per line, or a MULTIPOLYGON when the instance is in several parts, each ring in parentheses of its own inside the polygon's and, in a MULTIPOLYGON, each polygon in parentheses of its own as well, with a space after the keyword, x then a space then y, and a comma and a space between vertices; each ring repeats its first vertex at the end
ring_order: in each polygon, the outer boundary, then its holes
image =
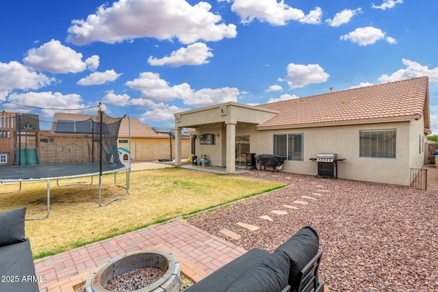
POLYGON ((438 134, 437 10, 430 0, 1 1, 0 110, 49 121, 102 101, 110 116, 172 127, 176 112, 207 105, 428 75, 438 134))

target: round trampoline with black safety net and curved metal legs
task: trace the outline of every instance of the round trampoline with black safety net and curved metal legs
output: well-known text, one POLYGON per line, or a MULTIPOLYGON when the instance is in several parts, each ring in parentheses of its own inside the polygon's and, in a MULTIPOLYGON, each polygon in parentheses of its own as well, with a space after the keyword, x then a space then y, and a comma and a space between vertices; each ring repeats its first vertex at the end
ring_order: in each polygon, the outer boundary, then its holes
MULTIPOLYGON (((124 116, 123 118, 125 118, 124 116)), ((83 140, 87 140, 88 151, 80 157, 79 163, 77 151, 68 148, 64 152, 63 161, 67 163, 46 163, 34 165, 12 165, 0 167, 0 185, 3 183, 19 183, 18 189, 14 191, 0 192, 3 194, 12 194, 21 191, 23 182, 47 181, 47 214, 44 217, 29 217, 26 220, 42 220, 50 215, 50 181, 56 180, 57 186, 66 187, 70 185, 92 185, 93 176, 99 175, 99 206, 103 207, 110 202, 125 198, 129 193, 129 173, 131 165, 125 165, 120 161, 117 153, 117 137, 120 123, 123 118, 110 118, 103 116, 100 111, 100 117, 95 122, 96 117, 81 121, 63 121, 54 122, 53 132, 62 135, 78 135, 83 140), (69 157, 70 156, 70 157, 69 157), (70 159, 70 161, 68 161, 70 159), (90 161, 90 162, 84 162, 90 161), (117 174, 125 172, 125 185, 117 184, 117 174), (114 185, 123 188, 125 194, 113 198, 107 202, 102 202, 101 187, 102 175, 114 173, 114 185), (60 185, 60 180, 65 178, 79 178, 90 176, 90 183, 73 183, 70 185, 60 185)), ((128 118, 129 121, 129 118, 128 118)), ((129 122, 128 122, 129 124, 129 122)), ((56 137, 56 135, 54 135, 56 137)), ((130 140, 130 139, 129 139, 130 140)), ((64 149, 64 148, 63 148, 64 149)), ((81 150, 82 151, 82 150, 81 150)), ((17 153, 20 153, 18 151, 17 153)), ((21 157, 17 157, 17 164, 21 164, 21 157)))

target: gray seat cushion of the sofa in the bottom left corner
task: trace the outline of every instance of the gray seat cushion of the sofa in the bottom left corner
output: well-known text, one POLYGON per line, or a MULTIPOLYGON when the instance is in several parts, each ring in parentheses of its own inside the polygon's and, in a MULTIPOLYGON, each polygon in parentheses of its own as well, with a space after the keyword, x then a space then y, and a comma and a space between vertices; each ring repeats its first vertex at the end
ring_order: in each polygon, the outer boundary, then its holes
POLYGON ((29 239, 0 248, 0 291, 38 292, 29 239))

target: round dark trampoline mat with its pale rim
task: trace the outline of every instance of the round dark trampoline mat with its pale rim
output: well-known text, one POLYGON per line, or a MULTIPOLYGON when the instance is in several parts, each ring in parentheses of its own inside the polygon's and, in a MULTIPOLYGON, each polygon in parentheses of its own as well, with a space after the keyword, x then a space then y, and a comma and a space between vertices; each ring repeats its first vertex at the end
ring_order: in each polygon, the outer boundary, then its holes
MULTIPOLYGON (((117 172, 128 167, 123 163, 102 163, 102 173, 117 172)), ((99 172, 99 163, 3 166, 0 167, 0 182, 70 178, 99 174, 99 172)))

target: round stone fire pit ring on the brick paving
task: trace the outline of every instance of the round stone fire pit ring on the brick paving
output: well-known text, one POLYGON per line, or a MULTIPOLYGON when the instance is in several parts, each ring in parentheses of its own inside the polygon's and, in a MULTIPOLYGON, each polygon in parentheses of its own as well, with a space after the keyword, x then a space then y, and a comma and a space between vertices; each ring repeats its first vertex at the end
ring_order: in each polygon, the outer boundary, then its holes
POLYGON ((122 254, 108 261, 87 279, 86 292, 110 292, 105 286, 117 276, 132 269, 155 267, 164 271, 162 278, 138 292, 178 292, 181 283, 181 267, 177 258, 162 250, 140 250, 122 254))

